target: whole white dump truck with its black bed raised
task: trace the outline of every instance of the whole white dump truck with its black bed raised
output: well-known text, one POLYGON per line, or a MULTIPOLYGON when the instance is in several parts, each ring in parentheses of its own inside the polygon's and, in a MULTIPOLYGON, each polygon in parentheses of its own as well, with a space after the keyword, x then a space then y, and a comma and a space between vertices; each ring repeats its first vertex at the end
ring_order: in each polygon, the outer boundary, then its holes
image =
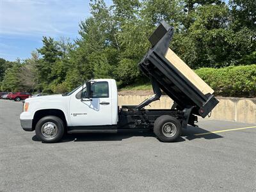
POLYGON ((149 40, 152 48, 139 63, 155 95, 138 106, 118 106, 114 79, 86 81, 70 93, 26 99, 20 114, 25 131, 46 143, 60 141, 65 132, 123 132, 153 130, 161 141, 174 141, 197 116, 205 117, 218 100, 213 90, 168 47, 173 28, 166 22, 149 40), (159 100, 161 90, 175 103, 170 109, 145 109, 159 100))

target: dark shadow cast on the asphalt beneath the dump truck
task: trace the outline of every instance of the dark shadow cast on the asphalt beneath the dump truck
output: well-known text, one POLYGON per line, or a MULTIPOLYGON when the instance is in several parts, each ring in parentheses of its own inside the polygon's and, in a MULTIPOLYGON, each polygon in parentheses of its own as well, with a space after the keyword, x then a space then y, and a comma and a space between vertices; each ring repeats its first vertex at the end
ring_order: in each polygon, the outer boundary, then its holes
MULTIPOLYGON (((187 129, 183 129, 182 136, 179 137, 175 143, 182 142, 186 140, 195 140, 197 138, 205 138, 206 140, 223 138, 218 134, 205 134, 200 136, 195 136, 195 134, 209 132, 200 127, 192 127, 188 126, 187 129)), ((152 137, 156 138, 154 132, 122 132, 122 133, 79 133, 79 134, 65 134, 62 142, 70 142, 70 141, 122 141, 127 138, 132 137, 152 137)), ((33 141, 40 141, 36 136, 33 136, 33 141)))

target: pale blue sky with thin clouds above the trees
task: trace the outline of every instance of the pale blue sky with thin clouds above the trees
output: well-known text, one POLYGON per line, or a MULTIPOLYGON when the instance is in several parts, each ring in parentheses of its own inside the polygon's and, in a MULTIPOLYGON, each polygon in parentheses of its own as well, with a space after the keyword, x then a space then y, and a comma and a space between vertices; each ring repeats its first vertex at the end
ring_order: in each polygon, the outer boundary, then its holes
MULTIPOLYGON (((42 36, 75 40, 79 22, 90 17, 89 0, 0 0, 0 58, 29 58, 42 36)), ((111 0, 105 1, 107 5, 111 0)))

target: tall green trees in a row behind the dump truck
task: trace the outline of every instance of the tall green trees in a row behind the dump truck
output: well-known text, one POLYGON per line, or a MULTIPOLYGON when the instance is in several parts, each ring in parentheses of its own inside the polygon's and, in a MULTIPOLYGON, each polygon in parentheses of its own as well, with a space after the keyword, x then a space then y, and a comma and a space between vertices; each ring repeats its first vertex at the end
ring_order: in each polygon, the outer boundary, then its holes
POLYGON ((175 28, 171 49, 193 69, 256 63, 256 1, 91 0, 90 10, 76 40, 43 36, 31 58, 0 59, 1 90, 63 93, 93 78, 114 78, 121 88, 148 82, 137 65, 162 20, 175 28))

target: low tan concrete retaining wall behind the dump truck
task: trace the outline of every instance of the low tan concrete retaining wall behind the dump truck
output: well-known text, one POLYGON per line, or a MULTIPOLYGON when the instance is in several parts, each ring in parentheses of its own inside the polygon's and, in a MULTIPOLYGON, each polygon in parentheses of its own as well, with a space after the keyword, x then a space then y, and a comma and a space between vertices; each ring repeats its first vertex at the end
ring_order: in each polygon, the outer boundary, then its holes
MULTIPOLYGON (((118 105, 137 105, 151 95, 118 95, 118 105)), ((218 120, 256 124, 256 99, 217 97, 220 103, 212 110, 211 117, 218 120)), ((173 100, 162 96, 160 100, 152 102, 147 109, 170 109, 173 100)), ((208 117, 205 117, 208 118, 208 117)))

